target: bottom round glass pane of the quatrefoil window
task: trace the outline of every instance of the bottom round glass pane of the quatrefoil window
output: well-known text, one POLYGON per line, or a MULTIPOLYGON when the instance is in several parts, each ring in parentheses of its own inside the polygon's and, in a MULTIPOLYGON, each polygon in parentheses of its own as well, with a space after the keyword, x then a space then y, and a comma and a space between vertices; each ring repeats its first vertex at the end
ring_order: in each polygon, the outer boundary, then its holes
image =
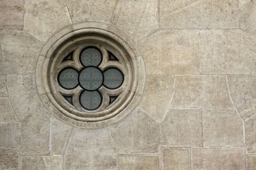
POLYGON ((86 91, 84 90, 80 95, 81 105, 88 110, 97 109, 101 103, 101 96, 98 91, 86 91))

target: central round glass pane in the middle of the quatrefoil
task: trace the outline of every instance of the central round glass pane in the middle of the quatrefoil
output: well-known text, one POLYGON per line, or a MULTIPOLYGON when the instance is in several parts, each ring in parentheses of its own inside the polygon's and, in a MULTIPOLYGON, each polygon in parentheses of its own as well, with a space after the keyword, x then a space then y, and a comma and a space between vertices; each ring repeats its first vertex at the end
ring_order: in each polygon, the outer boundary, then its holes
POLYGON ((103 75, 98 68, 87 67, 79 74, 79 83, 86 90, 96 90, 103 82, 103 75))

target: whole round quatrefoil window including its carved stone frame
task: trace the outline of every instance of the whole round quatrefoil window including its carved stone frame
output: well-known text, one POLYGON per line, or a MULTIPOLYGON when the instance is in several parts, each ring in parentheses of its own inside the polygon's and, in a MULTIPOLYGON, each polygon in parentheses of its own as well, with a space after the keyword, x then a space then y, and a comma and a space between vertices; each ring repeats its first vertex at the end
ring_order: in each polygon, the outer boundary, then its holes
POLYGON ((127 35, 104 24, 86 24, 90 27, 73 25, 46 43, 37 64, 37 87, 45 106, 64 122, 99 128, 137 106, 145 68, 127 35))

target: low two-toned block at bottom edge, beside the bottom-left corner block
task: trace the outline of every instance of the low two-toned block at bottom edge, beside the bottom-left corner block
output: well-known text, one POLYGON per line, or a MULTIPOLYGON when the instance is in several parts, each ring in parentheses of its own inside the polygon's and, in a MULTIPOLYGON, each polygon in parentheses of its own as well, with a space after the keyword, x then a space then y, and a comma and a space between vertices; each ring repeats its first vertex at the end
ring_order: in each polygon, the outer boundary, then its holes
POLYGON ((62 156, 22 156, 21 170, 62 170, 62 156))

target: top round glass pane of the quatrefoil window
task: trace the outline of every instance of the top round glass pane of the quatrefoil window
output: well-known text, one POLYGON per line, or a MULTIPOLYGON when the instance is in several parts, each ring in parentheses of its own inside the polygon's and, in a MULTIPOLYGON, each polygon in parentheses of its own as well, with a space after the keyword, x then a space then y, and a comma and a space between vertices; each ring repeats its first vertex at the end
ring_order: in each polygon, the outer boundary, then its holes
POLYGON ((98 66, 102 60, 101 52, 95 47, 81 51, 80 61, 84 66, 98 66))

